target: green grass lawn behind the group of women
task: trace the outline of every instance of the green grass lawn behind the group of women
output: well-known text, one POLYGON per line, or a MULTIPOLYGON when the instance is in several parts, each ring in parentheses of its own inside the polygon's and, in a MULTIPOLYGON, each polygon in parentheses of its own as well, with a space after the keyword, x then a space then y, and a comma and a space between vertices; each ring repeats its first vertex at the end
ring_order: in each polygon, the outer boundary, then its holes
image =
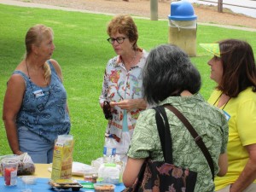
MULTIPOLYGON (((73 160, 90 164, 102 156, 104 131, 107 120, 98 103, 101 94, 104 68, 115 53, 106 27, 112 18, 67 12, 53 9, 20 8, 0 4, 0 115, 3 113, 3 96, 6 82, 25 54, 24 39, 29 27, 38 23, 52 27, 55 32, 55 53, 64 76, 68 105, 72 120, 71 134, 75 139, 73 160)), ((134 18, 138 32, 138 45, 150 50, 168 43, 167 20, 134 18)), ((223 38, 240 38, 252 44, 256 52, 256 32, 245 32, 217 26, 197 27, 197 44, 213 43, 223 38)), ((201 94, 206 99, 214 83, 209 79, 207 61, 211 58, 199 45, 197 56, 191 58, 201 72, 201 94)), ((11 154, 5 136, 3 120, 0 121, 0 155, 11 154)))

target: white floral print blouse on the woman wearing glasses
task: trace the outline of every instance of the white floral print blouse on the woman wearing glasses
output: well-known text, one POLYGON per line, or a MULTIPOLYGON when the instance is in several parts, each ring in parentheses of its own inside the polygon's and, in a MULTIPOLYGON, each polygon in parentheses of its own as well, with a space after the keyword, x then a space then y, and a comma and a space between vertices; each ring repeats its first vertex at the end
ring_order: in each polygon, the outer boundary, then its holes
MULTIPOLYGON (((117 55, 108 61, 105 69, 102 95, 100 96, 100 104, 104 101, 119 102, 125 99, 143 98, 142 71, 146 62, 148 53, 145 50, 140 61, 136 66, 126 70, 120 55, 117 55)), ((127 125, 130 135, 134 130, 138 115, 142 109, 134 109, 127 112, 127 125)), ((108 121, 107 131, 121 138, 123 130, 123 117, 125 110, 115 106, 113 108, 113 119, 108 121)))

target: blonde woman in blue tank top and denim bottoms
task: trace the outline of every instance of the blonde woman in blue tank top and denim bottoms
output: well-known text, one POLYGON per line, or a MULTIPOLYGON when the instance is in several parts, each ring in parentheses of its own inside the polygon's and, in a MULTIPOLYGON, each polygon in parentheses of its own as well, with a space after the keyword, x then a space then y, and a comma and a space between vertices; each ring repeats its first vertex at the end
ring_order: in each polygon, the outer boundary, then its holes
POLYGON ((3 121, 14 154, 27 152, 34 163, 50 163, 55 139, 70 131, 67 92, 60 65, 50 59, 52 29, 32 26, 25 43, 25 59, 8 81, 3 121))

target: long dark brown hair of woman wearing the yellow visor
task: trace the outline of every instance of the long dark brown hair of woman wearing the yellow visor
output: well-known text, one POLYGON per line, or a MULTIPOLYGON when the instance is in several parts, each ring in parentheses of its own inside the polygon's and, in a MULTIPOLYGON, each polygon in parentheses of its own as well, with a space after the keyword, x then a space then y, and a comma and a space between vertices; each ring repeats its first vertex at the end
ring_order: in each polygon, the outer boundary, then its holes
POLYGON ((238 96, 250 86, 256 92, 256 66, 251 45, 231 38, 219 41, 218 44, 223 77, 217 89, 230 97, 238 96))

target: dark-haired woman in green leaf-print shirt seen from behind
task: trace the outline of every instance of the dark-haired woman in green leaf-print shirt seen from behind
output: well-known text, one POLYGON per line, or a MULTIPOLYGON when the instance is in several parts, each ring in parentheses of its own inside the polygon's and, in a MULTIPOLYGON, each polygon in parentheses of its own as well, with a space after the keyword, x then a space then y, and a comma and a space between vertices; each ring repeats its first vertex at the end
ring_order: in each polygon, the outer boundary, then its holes
MULTIPOLYGON (((200 88, 200 73, 182 49, 166 44, 150 51, 143 69, 144 98, 152 105, 170 103, 183 113, 206 143, 212 156, 214 175, 223 176, 227 171, 227 121, 218 108, 205 102, 198 93, 200 88)), ((212 172, 204 154, 183 123, 170 110, 166 109, 166 113, 172 133, 173 164, 197 172, 196 192, 212 192, 212 172)), ((137 119, 127 155, 123 175, 126 187, 135 182, 148 157, 164 160, 154 109, 143 111, 137 119)))

